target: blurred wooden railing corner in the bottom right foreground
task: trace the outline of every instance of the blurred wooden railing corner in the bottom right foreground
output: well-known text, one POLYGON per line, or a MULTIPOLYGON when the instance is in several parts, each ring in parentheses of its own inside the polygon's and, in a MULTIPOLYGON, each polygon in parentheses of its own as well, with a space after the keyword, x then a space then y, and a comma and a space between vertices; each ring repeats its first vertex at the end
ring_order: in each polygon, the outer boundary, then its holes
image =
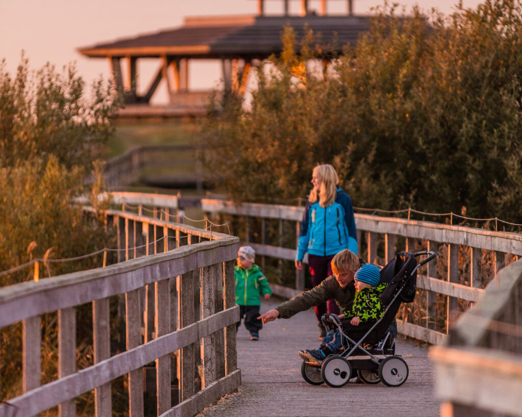
POLYGON ((430 356, 441 415, 522 415, 522 261, 500 271, 430 356))

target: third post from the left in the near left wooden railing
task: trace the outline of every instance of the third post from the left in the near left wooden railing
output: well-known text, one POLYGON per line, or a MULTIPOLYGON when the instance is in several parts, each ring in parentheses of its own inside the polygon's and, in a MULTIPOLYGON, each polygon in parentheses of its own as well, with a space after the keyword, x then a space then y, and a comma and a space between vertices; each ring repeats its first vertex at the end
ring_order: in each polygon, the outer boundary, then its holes
MULTIPOLYGON (((111 334, 109 322, 109 299, 102 298, 92 302, 92 327, 94 364, 111 357, 111 334)), ((96 417, 112 415, 111 383, 94 389, 96 417)))

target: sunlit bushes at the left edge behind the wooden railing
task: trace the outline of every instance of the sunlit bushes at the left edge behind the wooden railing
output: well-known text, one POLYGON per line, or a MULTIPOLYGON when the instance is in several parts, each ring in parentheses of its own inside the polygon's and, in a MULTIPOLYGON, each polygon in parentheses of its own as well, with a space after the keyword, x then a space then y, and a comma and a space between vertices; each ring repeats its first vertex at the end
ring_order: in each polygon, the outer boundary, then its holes
MULTIPOLYGON (((74 66, 29 71, 22 62, 14 79, 0 65, 0 271, 34 258, 85 255, 113 243, 101 218, 88 216, 75 198, 84 177, 113 132, 117 102, 102 80, 86 100, 74 66)), ((100 163, 96 191, 100 183, 100 163)), ((103 208, 96 204, 96 207, 103 208)), ((43 276, 100 265, 100 259, 49 263, 43 276)), ((0 285, 30 278, 28 271, 0 277, 0 285)))

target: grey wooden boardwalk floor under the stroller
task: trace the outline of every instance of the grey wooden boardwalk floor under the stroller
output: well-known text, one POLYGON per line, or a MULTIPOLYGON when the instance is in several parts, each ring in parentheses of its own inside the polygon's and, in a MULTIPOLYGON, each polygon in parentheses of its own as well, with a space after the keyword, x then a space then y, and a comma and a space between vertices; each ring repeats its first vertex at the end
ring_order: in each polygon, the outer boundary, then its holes
MULTIPOLYGON (((263 301, 261 312, 274 308, 277 299, 263 301)), ((440 404, 434 396, 434 375, 428 348, 397 339, 396 353, 409 366, 409 377, 400 387, 355 384, 342 388, 312 386, 301 377, 297 351, 316 348, 318 327, 313 310, 289 320, 264 326, 259 341, 251 341, 242 324, 238 330, 238 366, 242 386, 200 416, 436 416, 440 404)))

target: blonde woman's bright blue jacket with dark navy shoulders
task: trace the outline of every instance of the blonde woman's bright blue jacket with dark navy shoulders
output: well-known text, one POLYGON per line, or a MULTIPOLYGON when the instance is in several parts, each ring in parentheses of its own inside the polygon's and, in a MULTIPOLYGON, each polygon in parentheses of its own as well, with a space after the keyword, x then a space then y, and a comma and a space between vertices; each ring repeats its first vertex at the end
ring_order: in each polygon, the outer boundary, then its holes
POLYGON ((296 261, 304 254, 328 256, 349 249, 357 254, 357 230, 350 196, 337 188, 335 202, 321 207, 319 201, 306 203, 296 261))

